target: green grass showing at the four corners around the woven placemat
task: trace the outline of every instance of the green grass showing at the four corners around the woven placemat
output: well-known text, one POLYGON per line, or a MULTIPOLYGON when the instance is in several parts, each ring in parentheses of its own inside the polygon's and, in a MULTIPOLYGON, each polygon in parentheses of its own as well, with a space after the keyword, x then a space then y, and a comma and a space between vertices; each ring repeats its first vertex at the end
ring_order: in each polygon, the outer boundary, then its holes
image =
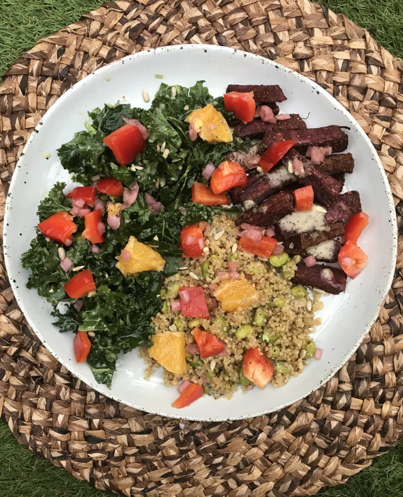
MULTIPOLYGON (((403 58, 403 0, 326 0, 365 27, 385 48, 403 58)), ((100 5, 97 0, 0 0, 0 76, 35 42, 77 20, 100 5)), ((65 470, 18 445, 8 426, 0 423, 0 496, 111 497, 78 482, 65 470)), ((345 485, 328 487, 320 497, 403 496, 403 445, 390 450, 345 485)))

